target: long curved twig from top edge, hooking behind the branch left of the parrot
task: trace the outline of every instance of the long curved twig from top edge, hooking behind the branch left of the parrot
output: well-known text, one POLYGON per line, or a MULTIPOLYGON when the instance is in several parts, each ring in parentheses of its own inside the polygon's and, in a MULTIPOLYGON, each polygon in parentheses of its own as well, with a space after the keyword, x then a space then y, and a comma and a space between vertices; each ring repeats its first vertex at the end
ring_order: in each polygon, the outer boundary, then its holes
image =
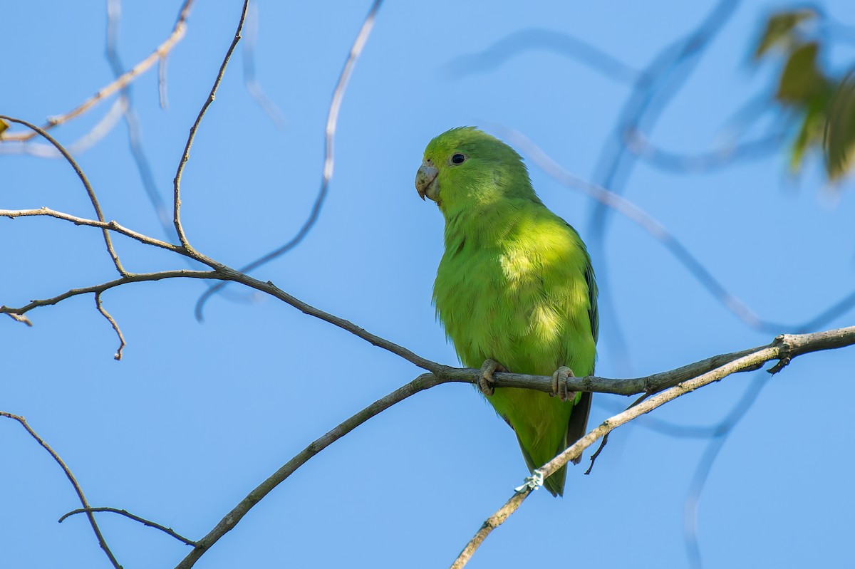
MULTIPOLYGON (((323 171, 321 173, 321 189, 318 191, 317 197, 315 197, 315 203, 312 205, 309 217, 306 218, 303 226, 300 227, 297 234, 294 235, 290 241, 281 247, 270 251, 267 255, 259 257, 248 265, 240 267, 239 270, 241 273, 249 273, 251 270, 261 267, 269 261, 273 261, 276 257, 284 255, 296 247, 303 241, 306 235, 309 234, 312 226, 315 225, 315 221, 317 221, 318 216, 321 214, 323 202, 327 198, 330 180, 333 179, 333 167, 335 165, 333 150, 335 148, 335 131, 339 124, 339 110, 341 109, 341 103, 344 100, 347 84, 351 79, 351 73, 353 73, 353 67, 356 65, 357 59, 362 53, 365 43, 369 39, 371 29, 374 27, 374 18, 377 15, 377 11, 380 9, 380 4, 382 3, 382 0, 374 0, 374 3, 371 5, 371 9, 369 9, 368 15, 365 16, 362 27, 359 28, 357 38, 353 41, 353 45, 351 45, 351 51, 345 61, 345 67, 342 68, 341 74, 339 75, 339 81, 333 90, 333 100, 329 104, 329 111, 327 112, 327 126, 324 130, 324 158, 323 171)), ((210 296, 214 295, 224 286, 226 286, 225 283, 219 283, 210 287, 208 290, 205 290, 202 296, 199 296, 199 299, 196 302, 196 320, 199 320, 200 322, 203 320, 202 309, 205 302, 208 301, 210 296)))

